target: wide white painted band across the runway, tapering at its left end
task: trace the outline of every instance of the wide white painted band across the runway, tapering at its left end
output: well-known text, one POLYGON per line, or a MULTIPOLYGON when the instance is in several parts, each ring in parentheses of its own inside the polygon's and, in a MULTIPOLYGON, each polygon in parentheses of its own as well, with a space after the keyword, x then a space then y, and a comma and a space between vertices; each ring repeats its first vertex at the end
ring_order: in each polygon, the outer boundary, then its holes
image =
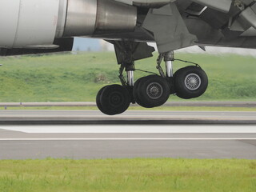
POLYGON ((256 126, 0 126, 28 134, 256 134, 256 126))

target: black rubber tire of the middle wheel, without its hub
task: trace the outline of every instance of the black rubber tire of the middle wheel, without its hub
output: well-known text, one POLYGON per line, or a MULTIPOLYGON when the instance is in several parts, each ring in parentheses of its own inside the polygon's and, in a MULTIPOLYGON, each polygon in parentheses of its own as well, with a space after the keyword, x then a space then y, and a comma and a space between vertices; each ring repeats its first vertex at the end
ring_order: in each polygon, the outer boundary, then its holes
POLYGON ((165 104, 170 97, 170 86, 165 78, 162 78, 158 75, 150 75, 146 78, 142 78, 142 81, 138 85, 138 98, 146 104, 147 108, 162 106, 165 104), (146 89, 152 82, 157 82, 162 86, 162 96, 160 98, 150 98, 146 94, 146 89))

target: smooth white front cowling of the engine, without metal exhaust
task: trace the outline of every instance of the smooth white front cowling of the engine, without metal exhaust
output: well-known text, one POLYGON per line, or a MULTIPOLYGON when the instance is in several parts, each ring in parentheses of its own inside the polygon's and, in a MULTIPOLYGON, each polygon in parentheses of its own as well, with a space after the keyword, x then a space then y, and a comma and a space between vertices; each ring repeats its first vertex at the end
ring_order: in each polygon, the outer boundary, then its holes
POLYGON ((59 0, 1 0, 0 46, 51 45, 58 22, 59 0))

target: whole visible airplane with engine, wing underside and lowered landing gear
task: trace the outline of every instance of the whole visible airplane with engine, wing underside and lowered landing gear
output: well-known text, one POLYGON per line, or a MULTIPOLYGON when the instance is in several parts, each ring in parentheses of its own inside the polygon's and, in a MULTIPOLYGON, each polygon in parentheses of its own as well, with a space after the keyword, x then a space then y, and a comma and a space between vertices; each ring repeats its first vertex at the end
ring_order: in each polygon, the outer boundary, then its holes
POLYGON ((174 50, 189 46, 256 48, 254 0, 1 0, 0 55, 72 50, 74 37, 102 38, 114 45, 122 85, 105 86, 96 102, 104 114, 130 103, 153 108, 171 94, 198 98, 206 72, 191 62, 174 72, 174 50), (135 62, 153 56, 159 74, 134 82, 135 62), (161 66, 165 62, 165 67, 161 66), (164 70, 165 69, 165 70, 164 70), (126 73, 126 75, 125 75, 126 73), (126 78, 125 78, 126 76, 126 78))

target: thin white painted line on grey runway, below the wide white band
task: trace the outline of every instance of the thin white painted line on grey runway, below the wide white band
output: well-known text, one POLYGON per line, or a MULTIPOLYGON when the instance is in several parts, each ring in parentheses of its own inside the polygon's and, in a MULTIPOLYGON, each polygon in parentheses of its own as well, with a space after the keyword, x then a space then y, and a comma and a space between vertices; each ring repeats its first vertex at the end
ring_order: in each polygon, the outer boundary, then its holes
POLYGON ((256 138, 1 138, 0 141, 233 141, 256 140, 256 138))

